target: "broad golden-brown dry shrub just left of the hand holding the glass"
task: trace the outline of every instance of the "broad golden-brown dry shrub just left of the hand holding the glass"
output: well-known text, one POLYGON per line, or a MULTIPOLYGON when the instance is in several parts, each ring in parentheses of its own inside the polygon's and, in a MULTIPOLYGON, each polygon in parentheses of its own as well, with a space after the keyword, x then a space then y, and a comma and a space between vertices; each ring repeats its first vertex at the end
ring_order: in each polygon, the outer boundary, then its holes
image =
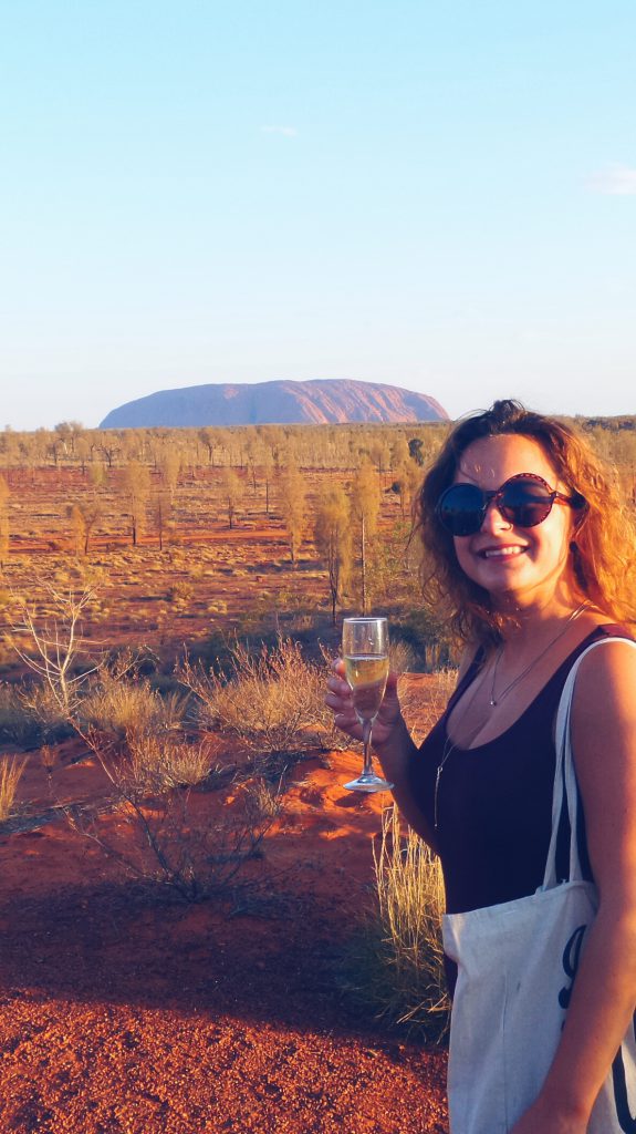
POLYGON ((224 678, 182 662, 178 677, 197 696, 201 723, 260 752, 342 747, 325 705, 326 658, 308 661, 300 643, 278 636, 275 646, 263 644, 256 654, 235 642, 230 669, 224 678))

